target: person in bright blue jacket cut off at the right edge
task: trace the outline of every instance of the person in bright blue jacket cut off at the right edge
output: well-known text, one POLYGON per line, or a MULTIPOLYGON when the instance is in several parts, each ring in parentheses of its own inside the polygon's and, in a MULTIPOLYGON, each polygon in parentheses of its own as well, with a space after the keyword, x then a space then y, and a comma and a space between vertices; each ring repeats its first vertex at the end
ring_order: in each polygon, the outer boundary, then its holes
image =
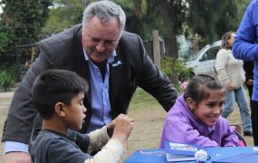
POLYGON ((247 7, 233 43, 233 54, 237 59, 253 62, 252 125, 253 143, 258 146, 258 1, 253 0, 247 7))

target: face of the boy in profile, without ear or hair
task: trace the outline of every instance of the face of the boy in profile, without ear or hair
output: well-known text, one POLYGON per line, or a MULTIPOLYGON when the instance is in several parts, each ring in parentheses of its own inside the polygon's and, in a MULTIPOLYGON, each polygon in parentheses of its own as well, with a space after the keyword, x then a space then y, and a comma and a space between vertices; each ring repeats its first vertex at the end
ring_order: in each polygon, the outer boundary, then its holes
POLYGON ((65 107, 66 127, 73 130, 80 130, 82 123, 84 123, 84 114, 87 110, 83 105, 84 93, 80 92, 77 96, 72 98, 71 105, 65 107))

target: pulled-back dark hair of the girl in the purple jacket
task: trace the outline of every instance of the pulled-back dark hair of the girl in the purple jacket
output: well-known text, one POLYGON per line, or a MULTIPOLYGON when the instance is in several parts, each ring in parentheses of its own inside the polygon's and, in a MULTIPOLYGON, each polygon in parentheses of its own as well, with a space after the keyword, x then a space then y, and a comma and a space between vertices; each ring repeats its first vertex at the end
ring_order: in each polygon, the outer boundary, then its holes
POLYGON ((184 98, 191 98, 198 105, 209 98, 209 90, 225 90, 225 86, 213 74, 197 74, 188 82, 184 98))

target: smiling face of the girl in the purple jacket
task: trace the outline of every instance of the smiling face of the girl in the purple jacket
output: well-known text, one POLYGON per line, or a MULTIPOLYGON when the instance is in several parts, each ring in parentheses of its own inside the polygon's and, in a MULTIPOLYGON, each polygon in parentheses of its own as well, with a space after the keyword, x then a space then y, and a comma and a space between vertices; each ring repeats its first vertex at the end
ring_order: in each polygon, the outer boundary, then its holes
POLYGON ((209 90, 209 98, 200 101, 198 105, 191 98, 188 98, 187 104, 198 120, 205 125, 215 125, 218 117, 223 111, 223 103, 225 101, 225 91, 209 90))

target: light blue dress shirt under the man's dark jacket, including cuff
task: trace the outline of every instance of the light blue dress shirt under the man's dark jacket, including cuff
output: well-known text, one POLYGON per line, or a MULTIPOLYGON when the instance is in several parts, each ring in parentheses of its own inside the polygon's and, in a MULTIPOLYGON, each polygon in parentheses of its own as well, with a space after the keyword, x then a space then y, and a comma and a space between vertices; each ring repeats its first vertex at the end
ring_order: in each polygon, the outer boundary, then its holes
MULTIPOLYGON (((109 95, 109 79, 110 79, 110 67, 109 63, 114 61, 114 56, 116 56, 116 51, 114 50, 108 62, 106 64, 106 72, 104 82, 102 80, 100 69, 91 62, 87 53, 84 52, 85 60, 89 62, 90 72, 91 72, 91 123, 87 130, 87 133, 95 129, 100 129, 106 124, 110 123, 111 117, 111 107, 110 107, 110 95, 109 95)), ((4 153, 12 151, 22 151, 28 153, 28 145, 16 142, 16 141, 5 141, 4 153)))

